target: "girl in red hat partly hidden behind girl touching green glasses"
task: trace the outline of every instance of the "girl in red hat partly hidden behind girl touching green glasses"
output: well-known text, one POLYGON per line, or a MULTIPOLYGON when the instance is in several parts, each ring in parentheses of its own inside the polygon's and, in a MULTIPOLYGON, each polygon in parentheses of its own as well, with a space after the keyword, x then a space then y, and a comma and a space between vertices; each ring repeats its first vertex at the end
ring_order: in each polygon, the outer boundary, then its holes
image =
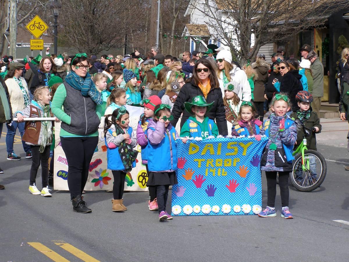
MULTIPOLYGON (((153 71, 151 71, 153 72, 153 71)), ((148 170, 148 138, 147 138, 147 128, 150 120, 154 117, 155 107, 161 104, 161 99, 157 95, 152 95, 149 99, 143 99, 144 106, 144 114, 141 115, 138 126, 137 126, 137 141, 141 146, 142 153, 142 164, 146 166, 147 174, 149 174, 148 170)), ((148 200, 148 208, 150 211, 158 210, 157 202, 156 202, 156 187, 148 186, 149 189, 149 200, 148 200)))

